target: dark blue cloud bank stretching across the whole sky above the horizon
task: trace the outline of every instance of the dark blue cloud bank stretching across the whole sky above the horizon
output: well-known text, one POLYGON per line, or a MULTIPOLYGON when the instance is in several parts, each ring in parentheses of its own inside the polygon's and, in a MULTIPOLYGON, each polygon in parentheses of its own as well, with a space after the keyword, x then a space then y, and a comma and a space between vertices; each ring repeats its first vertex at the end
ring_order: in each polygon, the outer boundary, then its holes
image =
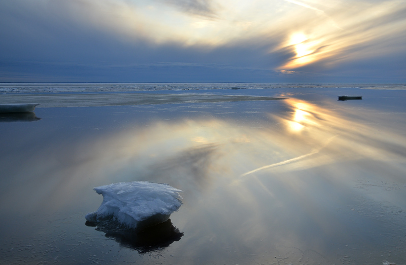
MULTIPOLYGON (((276 49, 281 33, 217 47, 156 44, 88 25, 52 3, 0 2, 0 82, 406 82, 401 52, 355 62, 336 57, 281 72, 295 56, 292 47, 276 49), (326 67, 328 60, 337 63, 326 67)), ((216 14, 211 1, 171 3, 199 16, 216 14)))

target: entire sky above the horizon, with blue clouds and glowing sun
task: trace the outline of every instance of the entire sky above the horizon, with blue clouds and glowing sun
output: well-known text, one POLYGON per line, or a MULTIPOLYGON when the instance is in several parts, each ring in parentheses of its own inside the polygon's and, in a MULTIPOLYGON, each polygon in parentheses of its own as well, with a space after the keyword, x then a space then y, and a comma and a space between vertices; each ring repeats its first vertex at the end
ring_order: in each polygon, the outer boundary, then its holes
POLYGON ((0 0, 0 82, 405 83, 404 0, 0 0))

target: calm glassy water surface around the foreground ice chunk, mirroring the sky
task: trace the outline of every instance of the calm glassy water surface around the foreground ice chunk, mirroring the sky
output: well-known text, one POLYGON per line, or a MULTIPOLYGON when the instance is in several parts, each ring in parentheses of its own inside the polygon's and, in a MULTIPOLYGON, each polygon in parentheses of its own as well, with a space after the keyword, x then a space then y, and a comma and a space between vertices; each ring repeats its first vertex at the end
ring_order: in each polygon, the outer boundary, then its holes
POLYGON ((238 93, 289 99, 1 122, 0 263, 405 264, 406 91, 238 93), (93 187, 145 180, 183 191, 183 236, 140 248, 85 225, 93 187))

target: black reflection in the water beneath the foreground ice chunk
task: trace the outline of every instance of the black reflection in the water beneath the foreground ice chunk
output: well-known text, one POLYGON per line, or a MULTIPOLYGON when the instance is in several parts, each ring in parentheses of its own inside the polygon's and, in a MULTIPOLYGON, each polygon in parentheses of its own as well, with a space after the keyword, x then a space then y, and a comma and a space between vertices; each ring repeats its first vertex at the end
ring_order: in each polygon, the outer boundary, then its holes
POLYGON ((112 223, 92 223, 86 221, 87 226, 96 226, 97 231, 106 233, 106 237, 113 238, 120 246, 137 250, 139 253, 147 253, 167 247, 179 241, 183 236, 172 224, 171 219, 157 225, 148 226, 143 230, 128 229, 124 226, 112 223))

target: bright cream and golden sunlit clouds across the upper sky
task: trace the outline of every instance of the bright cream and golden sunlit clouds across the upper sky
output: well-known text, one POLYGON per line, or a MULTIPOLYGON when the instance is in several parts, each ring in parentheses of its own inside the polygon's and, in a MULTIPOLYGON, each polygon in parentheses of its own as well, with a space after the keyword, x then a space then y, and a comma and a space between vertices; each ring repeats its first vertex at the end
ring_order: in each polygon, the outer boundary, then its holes
MULTIPOLYGON (((91 4, 95 12, 86 19, 93 26, 158 45, 178 43, 213 48, 277 37, 280 45, 270 43, 270 52, 291 47, 295 53, 279 69, 294 69, 328 58, 332 59, 330 63, 348 59, 352 48, 382 42, 400 34, 406 25, 406 19, 398 14, 406 9, 401 1, 217 0, 203 1, 207 4, 203 7, 192 0, 74 2, 91 4), (103 19, 99 19, 100 14, 103 19)), ((358 51, 356 56, 363 54, 358 51)))

